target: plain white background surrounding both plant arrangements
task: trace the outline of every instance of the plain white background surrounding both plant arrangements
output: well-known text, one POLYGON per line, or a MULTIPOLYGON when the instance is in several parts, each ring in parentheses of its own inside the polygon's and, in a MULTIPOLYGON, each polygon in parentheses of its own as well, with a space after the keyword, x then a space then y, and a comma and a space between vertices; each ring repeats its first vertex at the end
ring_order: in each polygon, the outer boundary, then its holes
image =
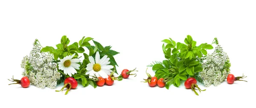
MULTIPOLYGON (((249 107, 255 92, 256 3, 253 0, 1 0, 1 106, 18 108, 175 108, 175 107, 249 107), (186 35, 201 43, 219 44, 230 57, 231 73, 248 76, 248 82, 223 82, 196 96, 185 89, 150 88, 143 83, 146 65, 164 60, 163 39, 171 37, 183 42, 186 35), (114 85, 86 88, 81 85, 68 95, 61 89, 40 89, 30 85, 8 85, 12 75, 20 79, 21 60, 32 49, 37 38, 43 46, 54 46, 67 35, 70 43, 83 36, 93 37, 102 45, 111 45, 120 54, 115 56, 122 69, 139 71, 114 85), (249 99, 252 97, 252 99, 249 99)), ((154 75, 151 68, 148 73, 154 75)), ((204 85, 198 84, 202 89, 204 85)))

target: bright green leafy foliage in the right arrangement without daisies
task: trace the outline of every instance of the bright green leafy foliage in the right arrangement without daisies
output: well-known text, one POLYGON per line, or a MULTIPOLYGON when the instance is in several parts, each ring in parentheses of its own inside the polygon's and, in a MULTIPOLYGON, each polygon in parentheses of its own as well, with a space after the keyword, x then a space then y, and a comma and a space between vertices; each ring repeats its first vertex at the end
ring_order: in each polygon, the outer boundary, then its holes
POLYGON ((164 78, 166 88, 170 85, 180 86, 180 81, 195 77, 195 74, 202 71, 201 63, 205 60, 207 49, 212 49, 212 45, 203 43, 197 46, 197 42, 190 35, 184 40, 184 43, 175 42, 171 38, 162 42, 163 54, 166 60, 163 63, 154 63, 152 70, 155 71, 157 79, 164 78))

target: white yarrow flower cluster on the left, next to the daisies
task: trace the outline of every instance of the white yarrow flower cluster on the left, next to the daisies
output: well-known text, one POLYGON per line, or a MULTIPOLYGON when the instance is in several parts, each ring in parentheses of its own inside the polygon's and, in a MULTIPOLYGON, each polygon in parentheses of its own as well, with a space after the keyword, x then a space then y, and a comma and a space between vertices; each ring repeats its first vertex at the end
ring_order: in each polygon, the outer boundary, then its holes
POLYGON ((57 64, 52 63, 53 55, 41 52, 41 45, 35 40, 34 47, 29 56, 23 58, 21 68, 24 68, 23 76, 30 80, 31 85, 38 88, 54 89, 61 74, 58 72, 57 64))

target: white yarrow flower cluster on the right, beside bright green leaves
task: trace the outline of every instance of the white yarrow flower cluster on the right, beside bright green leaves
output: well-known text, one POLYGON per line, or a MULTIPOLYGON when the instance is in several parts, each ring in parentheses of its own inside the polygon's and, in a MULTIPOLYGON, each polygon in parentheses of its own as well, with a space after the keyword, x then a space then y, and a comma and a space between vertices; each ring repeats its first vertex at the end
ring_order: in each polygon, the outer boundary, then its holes
POLYGON ((207 54, 206 60, 205 63, 202 63, 203 71, 199 73, 199 77, 206 87, 212 84, 214 86, 220 85, 230 73, 227 53, 223 51, 220 45, 217 45, 212 54, 207 54))

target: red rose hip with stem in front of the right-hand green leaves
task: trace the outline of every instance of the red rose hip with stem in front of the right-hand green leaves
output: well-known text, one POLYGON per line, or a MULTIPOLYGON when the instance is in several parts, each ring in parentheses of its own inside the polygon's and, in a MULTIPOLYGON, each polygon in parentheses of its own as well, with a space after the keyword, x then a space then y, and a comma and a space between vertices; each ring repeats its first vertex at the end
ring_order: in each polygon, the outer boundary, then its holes
POLYGON ((195 94, 198 95, 198 93, 195 91, 195 88, 198 88, 198 90, 199 90, 200 92, 201 92, 201 91, 205 91, 205 90, 201 90, 201 89, 198 87, 198 85, 197 85, 196 83, 197 83, 197 81, 195 80, 195 78, 190 77, 190 78, 188 78, 188 79, 185 81, 184 85, 185 85, 185 87, 186 87, 187 89, 191 88, 192 91, 194 91, 195 94))

